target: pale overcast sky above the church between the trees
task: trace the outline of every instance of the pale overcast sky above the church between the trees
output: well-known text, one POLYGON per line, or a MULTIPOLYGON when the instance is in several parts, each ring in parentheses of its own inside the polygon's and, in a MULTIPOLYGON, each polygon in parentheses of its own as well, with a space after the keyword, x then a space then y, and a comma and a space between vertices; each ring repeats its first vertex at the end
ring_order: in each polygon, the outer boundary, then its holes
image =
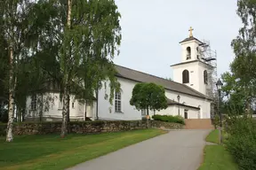
POLYGON ((181 61, 180 41, 189 35, 210 41, 217 51, 218 76, 235 57, 231 41, 242 22, 236 0, 116 0, 121 13, 122 43, 117 65, 172 78, 171 65, 181 61))

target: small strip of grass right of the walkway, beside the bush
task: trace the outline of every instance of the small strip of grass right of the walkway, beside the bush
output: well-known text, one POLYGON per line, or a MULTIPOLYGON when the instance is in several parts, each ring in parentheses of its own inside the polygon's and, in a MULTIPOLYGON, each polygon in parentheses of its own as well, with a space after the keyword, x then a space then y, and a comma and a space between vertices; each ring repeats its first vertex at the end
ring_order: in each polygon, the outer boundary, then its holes
MULTIPOLYGON (((218 143, 219 132, 213 130, 206 141, 218 143)), ((204 163, 198 170, 238 170, 231 155, 226 151, 223 145, 207 145, 204 148, 204 163)))

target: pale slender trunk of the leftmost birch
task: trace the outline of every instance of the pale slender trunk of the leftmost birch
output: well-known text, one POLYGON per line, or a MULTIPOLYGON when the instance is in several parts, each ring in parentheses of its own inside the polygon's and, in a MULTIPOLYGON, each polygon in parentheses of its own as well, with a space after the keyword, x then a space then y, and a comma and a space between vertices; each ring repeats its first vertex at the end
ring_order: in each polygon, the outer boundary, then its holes
POLYGON ((10 48, 10 77, 9 77, 9 105, 8 105, 8 124, 6 132, 6 142, 13 141, 12 128, 14 120, 14 86, 13 86, 13 50, 10 48))

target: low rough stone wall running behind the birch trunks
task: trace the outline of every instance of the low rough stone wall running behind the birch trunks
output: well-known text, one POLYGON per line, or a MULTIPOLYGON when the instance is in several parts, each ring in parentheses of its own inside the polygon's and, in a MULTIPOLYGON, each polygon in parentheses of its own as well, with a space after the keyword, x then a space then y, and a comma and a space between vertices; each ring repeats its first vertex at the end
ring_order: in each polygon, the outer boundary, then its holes
MULTIPOLYGON (((150 128, 179 129, 183 125, 163 121, 149 121, 150 128)), ((134 129, 148 128, 145 120, 133 121, 71 121, 68 127, 69 133, 74 134, 99 134, 108 132, 130 131, 134 129)), ((0 124, 0 135, 5 135, 6 124, 0 124)), ((61 130, 61 122, 23 122, 14 124, 14 135, 46 135, 58 134, 61 130)))

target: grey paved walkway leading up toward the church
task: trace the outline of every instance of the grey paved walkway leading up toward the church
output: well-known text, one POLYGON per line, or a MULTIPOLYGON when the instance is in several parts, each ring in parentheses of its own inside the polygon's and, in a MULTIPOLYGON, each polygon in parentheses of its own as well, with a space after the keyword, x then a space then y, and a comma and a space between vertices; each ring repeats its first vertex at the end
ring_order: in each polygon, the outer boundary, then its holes
POLYGON ((173 130, 68 170, 196 170, 211 130, 173 130))

